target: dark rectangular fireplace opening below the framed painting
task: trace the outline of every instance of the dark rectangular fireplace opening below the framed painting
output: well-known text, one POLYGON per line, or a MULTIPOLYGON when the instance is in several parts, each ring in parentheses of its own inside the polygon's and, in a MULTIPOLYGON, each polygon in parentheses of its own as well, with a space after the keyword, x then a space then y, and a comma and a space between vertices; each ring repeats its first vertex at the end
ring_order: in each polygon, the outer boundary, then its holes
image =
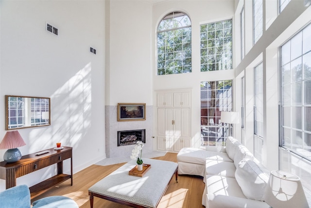
POLYGON ((146 143, 145 129, 140 130, 129 130, 129 131, 118 131, 118 147, 125 145, 134 145, 137 141, 146 143))

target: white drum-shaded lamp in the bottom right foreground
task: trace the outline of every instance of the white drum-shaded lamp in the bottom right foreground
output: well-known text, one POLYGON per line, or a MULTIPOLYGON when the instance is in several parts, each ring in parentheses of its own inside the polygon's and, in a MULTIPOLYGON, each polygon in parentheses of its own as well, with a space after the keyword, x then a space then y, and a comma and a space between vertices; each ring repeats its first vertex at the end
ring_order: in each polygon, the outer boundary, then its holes
POLYGON ((274 208, 309 208, 300 178, 281 170, 271 171, 263 199, 274 208))

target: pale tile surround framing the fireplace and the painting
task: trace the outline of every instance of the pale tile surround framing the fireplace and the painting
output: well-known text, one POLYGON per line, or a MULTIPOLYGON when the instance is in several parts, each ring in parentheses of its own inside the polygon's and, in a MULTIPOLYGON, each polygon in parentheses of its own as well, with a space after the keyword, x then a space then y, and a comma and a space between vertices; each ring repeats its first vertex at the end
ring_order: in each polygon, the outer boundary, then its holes
POLYGON ((106 157, 130 158, 134 145, 118 147, 118 131, 145 129, 145 139, 142 154, 153 151, 153 107, 146 106, 146 120, 144 121, 117 121, 117 106, 105 106, 106 157))

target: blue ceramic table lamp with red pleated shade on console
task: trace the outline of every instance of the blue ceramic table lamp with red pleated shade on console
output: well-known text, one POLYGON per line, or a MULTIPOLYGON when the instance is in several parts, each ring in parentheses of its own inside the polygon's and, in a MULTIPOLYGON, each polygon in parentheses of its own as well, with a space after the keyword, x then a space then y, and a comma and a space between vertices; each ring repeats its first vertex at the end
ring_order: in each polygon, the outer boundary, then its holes
POLYGON ((6 132, 1 143, 0 150, 6 150, 3 159, 7 163, 13 163, 21 158, 21 152, 17 149, 26 145, 18 131, 6 132))

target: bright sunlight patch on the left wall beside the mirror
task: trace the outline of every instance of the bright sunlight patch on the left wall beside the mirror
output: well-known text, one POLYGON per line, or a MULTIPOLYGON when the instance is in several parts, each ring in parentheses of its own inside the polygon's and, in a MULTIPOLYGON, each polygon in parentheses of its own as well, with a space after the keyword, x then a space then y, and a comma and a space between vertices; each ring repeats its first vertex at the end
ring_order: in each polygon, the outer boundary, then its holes
POLYGON ((30 133, 30 151, 54 147, 56 142, 75 146, 91 125, 91 63, 86 64, 51 95, 51 127, 30 133), (38 137, 46 139, 37 140, 38 137), (32 150, 34 149, 34 150, 32 150))

